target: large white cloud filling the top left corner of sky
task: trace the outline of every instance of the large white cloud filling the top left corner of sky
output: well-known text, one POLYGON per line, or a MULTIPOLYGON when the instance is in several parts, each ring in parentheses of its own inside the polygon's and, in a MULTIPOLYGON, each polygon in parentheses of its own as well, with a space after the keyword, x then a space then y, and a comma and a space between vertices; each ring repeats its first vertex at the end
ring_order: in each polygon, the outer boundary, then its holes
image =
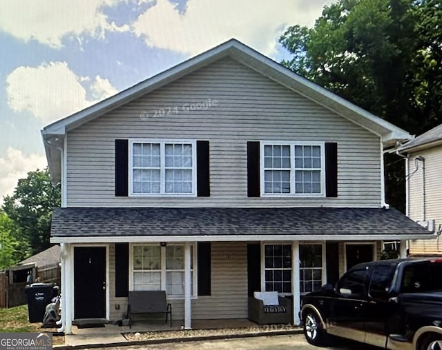
POLYGON ((0 30, 23 41, 35 39, 61 48, 66 34, 104 37, 106 31, 128 30, 127 25, 108 23, 102 6, 125 0, 1 0, 0 30))

